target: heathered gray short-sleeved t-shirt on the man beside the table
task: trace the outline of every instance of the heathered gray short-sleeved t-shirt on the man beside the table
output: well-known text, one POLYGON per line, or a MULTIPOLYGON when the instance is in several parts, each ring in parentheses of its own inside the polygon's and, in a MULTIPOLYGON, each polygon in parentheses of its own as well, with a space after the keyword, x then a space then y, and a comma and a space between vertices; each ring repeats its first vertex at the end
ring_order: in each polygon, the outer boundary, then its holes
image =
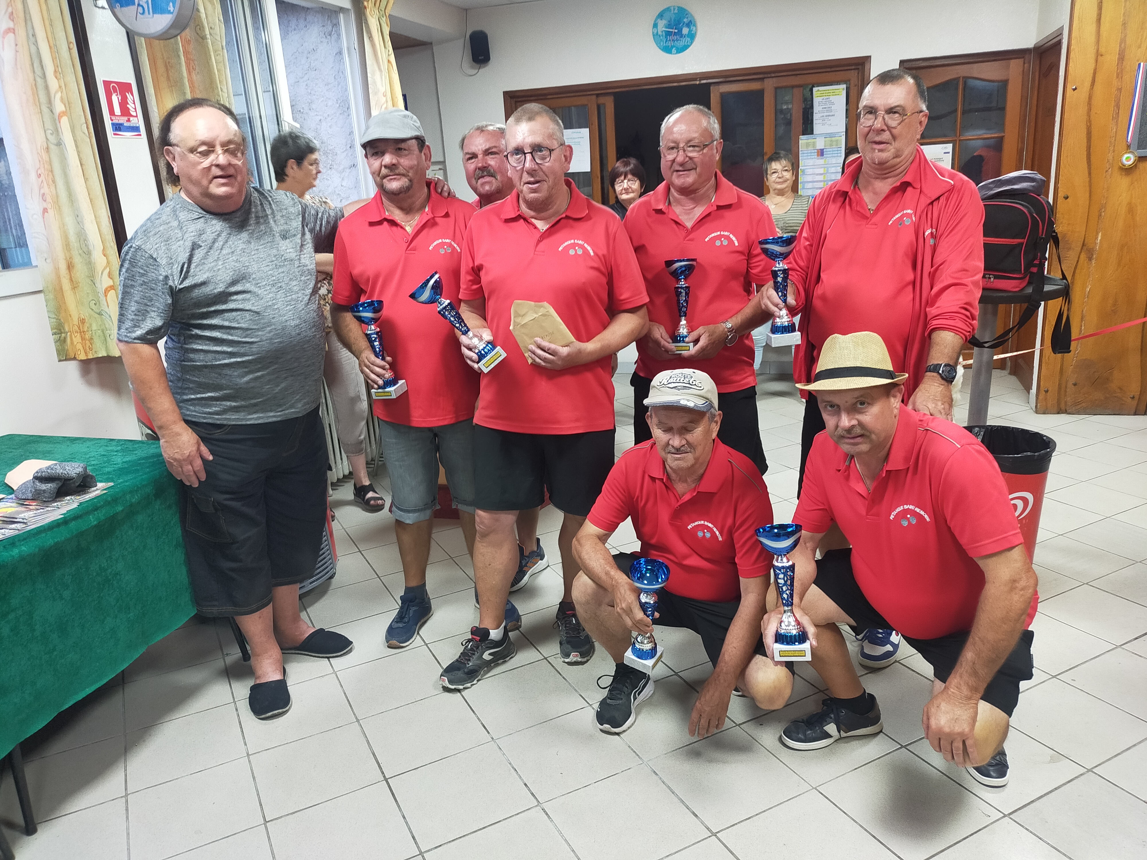
POLYGON ((175 195, 124 245, 118 337, 167 338, 167 383, 185 420, 262 424, 319 405, 314 253, 331 251, 341 217, 255 186, 225 214, 175 195))

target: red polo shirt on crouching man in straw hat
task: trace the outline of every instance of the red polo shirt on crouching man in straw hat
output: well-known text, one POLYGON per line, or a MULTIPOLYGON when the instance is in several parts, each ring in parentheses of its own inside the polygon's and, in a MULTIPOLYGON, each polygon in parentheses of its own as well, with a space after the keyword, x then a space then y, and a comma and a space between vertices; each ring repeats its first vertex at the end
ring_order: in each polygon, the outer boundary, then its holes
MULTIPOLYGON (((840 525, 860 591, 914 639, 972 630, 984 589, 975 558, 1023 544, 988 449, 963 428, 906 406, 871 493, 856 461, 817 435, 794 521, 813 533, 840 525)), ((1038 602, 1037 594, 1028 624, 1038 602)))

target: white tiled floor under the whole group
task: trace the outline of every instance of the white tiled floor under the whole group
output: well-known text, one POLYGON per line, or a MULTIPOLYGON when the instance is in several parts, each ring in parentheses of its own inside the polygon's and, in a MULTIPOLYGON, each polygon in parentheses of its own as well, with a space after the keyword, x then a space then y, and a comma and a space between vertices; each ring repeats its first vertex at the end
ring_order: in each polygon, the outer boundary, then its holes
MULTIPOLYGON (((617 383, 623 451, 632 396, 624 375, 617 383)), ((304 604, 356 641, 351 655, 289 657, 294 710, 263 724, 227 627, 189 623, 25 743, 40 832, 15 829, 8 777, 0 826, 21 860, 1147 857, 1147 419, 1036 415, 1000 374, 993 394, 993 422, 1041 429, 1062 452, 1036 553, 1036 678, 1007 742, 1007 788, 973 782, 922 740, 929 672, 911 649, 865 677, 883 734, 798 753, 778 733, 819 705, 814 672, 802 667, 783 710, 734 699, 727 727, 695 742, 688 714, 709 666, 695 636, 666 631, 656 695, 625 735, 602 735, 591 705, 612 667, 555 657, 557 570, 514 595, 518 656, 471 690, 443 693, 439 666, 476 617, 457 521, 436 523, 435 616, 418 644, 392 651, 382 634, 401 592, 393 521, 352 507, 343 485, 338 576, 304 604)), ((762 377, 758 411, 786 517, 802 416, 791 382, 762 377)), ((559 524, 547 508, 553 555, 559 524)), ((614 544, 632 540, 625 527, 614 544)))

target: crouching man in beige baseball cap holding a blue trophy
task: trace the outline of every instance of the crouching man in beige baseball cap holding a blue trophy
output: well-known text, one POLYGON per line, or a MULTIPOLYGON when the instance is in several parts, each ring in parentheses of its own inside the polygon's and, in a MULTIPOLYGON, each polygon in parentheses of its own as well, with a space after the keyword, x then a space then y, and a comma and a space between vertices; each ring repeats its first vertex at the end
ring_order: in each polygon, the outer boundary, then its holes
POLYGON ((772 560, 755 532, 773 522, 768 490, 755 463, 717 438, 717 385, 701 370, 657 374, 645 399, 653 439, 622 454, 574 540, 582 564, 574 602, 586 630, 617 664, 598 703, 602 732, 627 729, 638 703, 653 695, 653 678, 623 663, 631 633, 654 626, 629 576, 638 555, 611 554, 606 546, 630 518, 641 541, 639 555, 658 558, 670 570, 654 623, 697 633, 713 664, 693 707, 689 734, 719 730, 734 691, 772 710, 793 690, 790 672, 767 658, 760 636, 772 560))

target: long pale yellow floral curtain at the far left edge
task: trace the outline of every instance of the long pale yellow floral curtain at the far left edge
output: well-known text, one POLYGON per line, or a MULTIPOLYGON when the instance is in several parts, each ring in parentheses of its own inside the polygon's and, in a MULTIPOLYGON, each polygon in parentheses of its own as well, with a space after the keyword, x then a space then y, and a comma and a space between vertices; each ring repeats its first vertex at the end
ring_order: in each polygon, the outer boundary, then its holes
POLYGON ((119 257, 67 0, 0 0, 0 86, 56 359, 118 355, 119 257))

